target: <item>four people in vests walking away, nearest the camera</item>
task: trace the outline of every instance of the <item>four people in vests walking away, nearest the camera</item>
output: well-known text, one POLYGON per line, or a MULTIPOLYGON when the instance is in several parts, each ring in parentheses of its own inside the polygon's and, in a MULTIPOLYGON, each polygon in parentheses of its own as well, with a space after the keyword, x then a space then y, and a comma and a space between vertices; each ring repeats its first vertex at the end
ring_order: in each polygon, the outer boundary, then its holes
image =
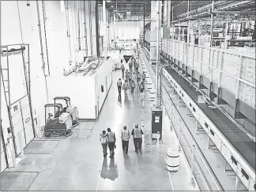
MULTIPOLYGON (((127 130, 127 127, 124 126, 122 131, 121 131, 121 139, 122 139, 122 152, 123 153, 128 153, 128 148, 129 148, 129 140, 130 140, 130 135, 134 136, 134 148, 135 148, 135 153, 142 153, 141 146, 142 146, 142 135, 144 135, 144 132, 141 130, 140 127, 136 124, 134 129, 131 131, 127 130)), ((115 145, 116 138, 115 138, 115 132, 111 131, 111 128, 107 128, 107 133, 106 131, 102 131, 100 134, 100 143, 103 148, 104 152, 104 158, 107 157, 107 146, 110 152, 110 158, 114 158, 115 155, 115 145)))

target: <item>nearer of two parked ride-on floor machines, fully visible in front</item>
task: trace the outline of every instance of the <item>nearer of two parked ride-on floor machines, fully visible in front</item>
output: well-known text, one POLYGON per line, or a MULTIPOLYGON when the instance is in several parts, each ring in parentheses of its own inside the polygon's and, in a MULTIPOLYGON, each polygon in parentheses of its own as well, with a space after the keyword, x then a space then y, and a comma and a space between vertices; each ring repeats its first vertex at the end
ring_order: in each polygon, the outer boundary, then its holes
POLYGON ((62 110, 62 104, 46 104, 44 105, 45 112, 45 126, 44 126, 44 135, 46 137, 51 136, 70 136, 72 134, 72 119, 70 113, 65 113, 62 110), (55 108, 55 116, 48 113, 47 118, 47 108, 55 108), (57 108, 57 110, 56 110, 57 108))

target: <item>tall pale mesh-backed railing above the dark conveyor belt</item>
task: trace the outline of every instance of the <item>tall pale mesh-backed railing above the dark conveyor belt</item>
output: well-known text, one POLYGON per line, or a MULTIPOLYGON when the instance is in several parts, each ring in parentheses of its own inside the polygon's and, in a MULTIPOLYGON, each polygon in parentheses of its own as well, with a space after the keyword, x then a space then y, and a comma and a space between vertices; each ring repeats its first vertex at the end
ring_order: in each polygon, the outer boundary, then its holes
POLYGON ((255 57, 162 39, 162 51, 255 109, 255 57))

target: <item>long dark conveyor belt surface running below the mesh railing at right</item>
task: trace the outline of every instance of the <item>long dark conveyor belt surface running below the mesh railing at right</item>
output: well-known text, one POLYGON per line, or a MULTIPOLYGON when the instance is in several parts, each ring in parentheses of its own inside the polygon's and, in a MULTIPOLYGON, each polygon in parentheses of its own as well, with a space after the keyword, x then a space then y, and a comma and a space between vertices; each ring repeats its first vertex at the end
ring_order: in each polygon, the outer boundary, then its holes
POLYGON ((223 113, 218 109, 209 109, 208 104, 198 103, 198 95, 194 87, 190 86, 189 83, 183 79, 182 76, 179 76, 175 70, 170 67, 165 68, 170 75, 176 80, 177 83, 187 94, 190 95, 190 98, 197 103, 201 110, 205 113, 206 116, 219 128, 221 133, 232 143, 232 146, 243 156, 243 158, 250 164, 251 168, 255 171, 255 142, 252 141, 243 131, 236 127, 235 124, 228 119, 223 113))

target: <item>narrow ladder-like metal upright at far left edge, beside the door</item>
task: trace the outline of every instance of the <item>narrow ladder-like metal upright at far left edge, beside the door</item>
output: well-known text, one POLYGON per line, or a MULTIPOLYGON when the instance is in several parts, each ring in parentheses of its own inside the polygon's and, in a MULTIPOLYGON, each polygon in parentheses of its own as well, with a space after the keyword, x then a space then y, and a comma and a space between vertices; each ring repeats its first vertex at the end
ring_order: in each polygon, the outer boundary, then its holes
POLYGON ((13 132, 13 121, 12 121, 12 116, 11 116, 11 111, 10 111, 10 94, 9 94, 9 50, 8 46, 1 46, 1 76, 2 76, 2 83, 3 83, 3 88, 4 88, 4 93, 5 93, 5 98, 6 98, 6 106, 8 110, 8 116, 9 116, 9 126, 11 129, 11 134, 13 137, 13 146, 14 146, 14 151, 15 151, 15 156, 17 157, 17 146, 15 142, 15 136, 13 132), (6 65, 5 65, 5 57, 6 57, 6 65))

